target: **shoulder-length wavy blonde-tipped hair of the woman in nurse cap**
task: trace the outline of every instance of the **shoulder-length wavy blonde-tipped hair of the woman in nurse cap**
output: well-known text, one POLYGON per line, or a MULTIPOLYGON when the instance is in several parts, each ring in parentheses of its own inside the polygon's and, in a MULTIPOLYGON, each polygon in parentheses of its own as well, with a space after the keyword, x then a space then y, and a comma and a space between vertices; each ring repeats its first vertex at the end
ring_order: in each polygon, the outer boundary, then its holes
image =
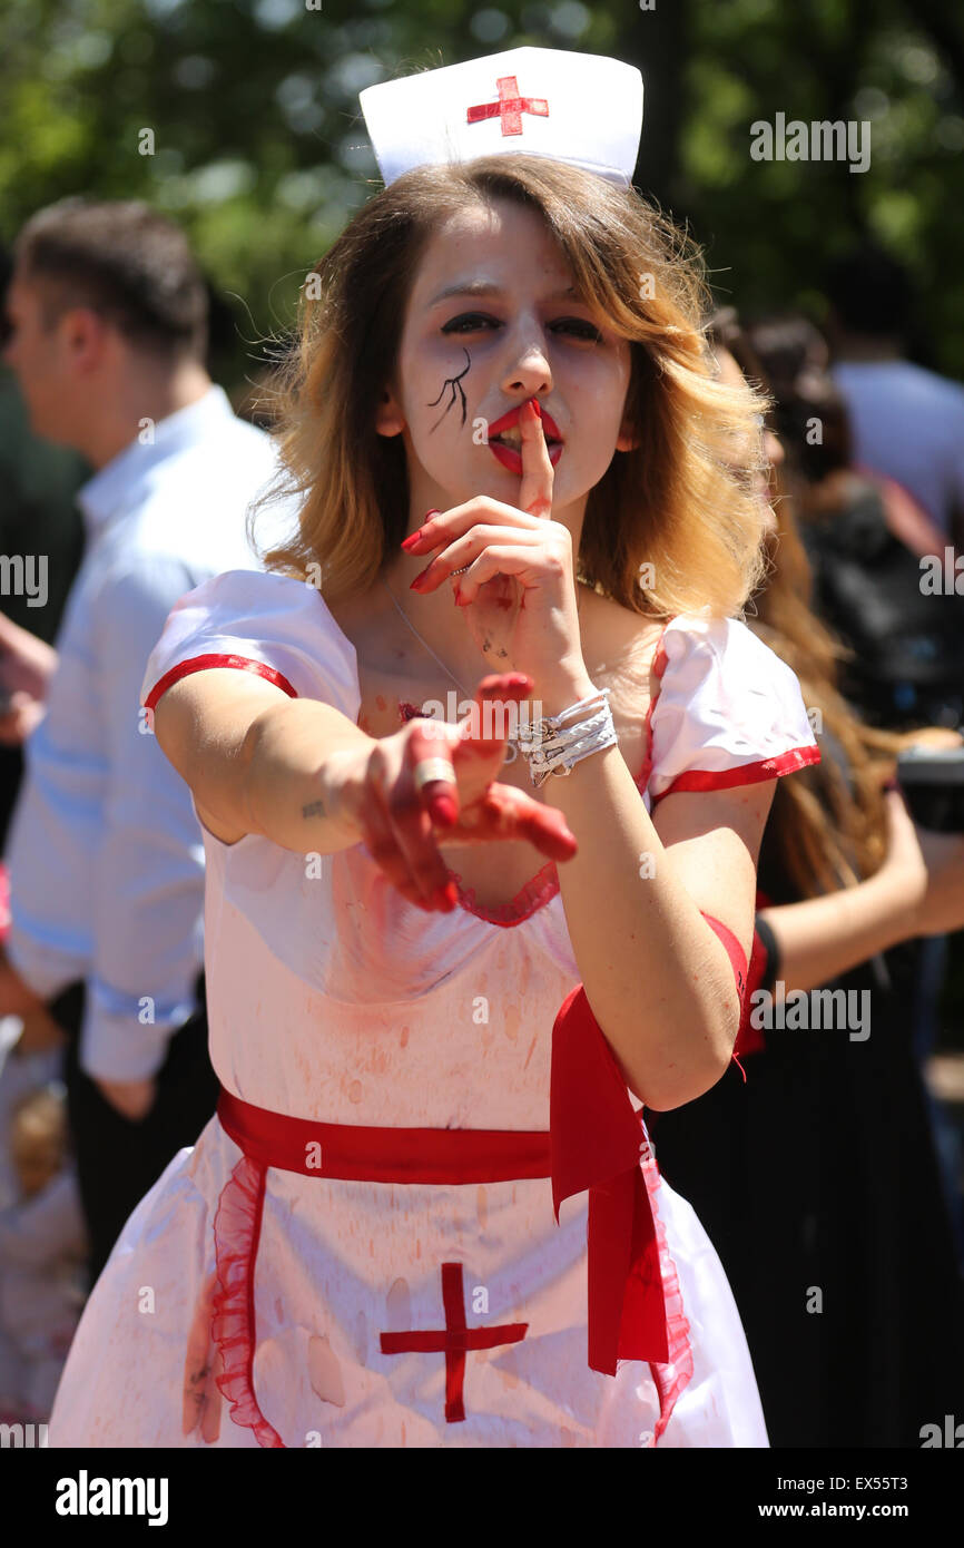
MULTIPOLYGON (((636 190, 520 153, 405 173, 308 276, 279 378, 283 471, 269 492, 300 498, 299 528, 262 553, 265 567, 314 584, 320 573, 336 602, 364 594, 396 556, 409 526, 405 447, 376 432, 376 406, 396 379, 429 240, 455 212, 494 200, 542 217, 580 297, 630 341, 625 412, 638 446, 616 454, 590 491, 580 577, 647 618, 740 615, 764 567, 752 471, 766 402, 715 379, 701 254, 636 190), (645 585, 642 565, 651 565, 645 585)), ((257 546, 255 520, 257 509, 257 546)))

